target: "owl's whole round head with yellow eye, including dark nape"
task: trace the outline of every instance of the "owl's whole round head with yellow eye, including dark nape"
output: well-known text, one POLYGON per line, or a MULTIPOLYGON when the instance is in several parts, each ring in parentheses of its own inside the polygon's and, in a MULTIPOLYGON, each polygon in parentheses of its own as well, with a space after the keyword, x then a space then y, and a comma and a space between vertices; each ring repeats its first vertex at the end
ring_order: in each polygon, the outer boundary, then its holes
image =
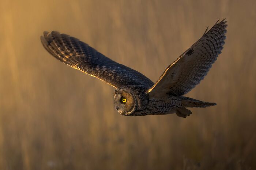
POLYGON ((148 103, 144 86, 127 86, 114 91, 114 105, 121 115, 131 115, 143 110, 148 103))

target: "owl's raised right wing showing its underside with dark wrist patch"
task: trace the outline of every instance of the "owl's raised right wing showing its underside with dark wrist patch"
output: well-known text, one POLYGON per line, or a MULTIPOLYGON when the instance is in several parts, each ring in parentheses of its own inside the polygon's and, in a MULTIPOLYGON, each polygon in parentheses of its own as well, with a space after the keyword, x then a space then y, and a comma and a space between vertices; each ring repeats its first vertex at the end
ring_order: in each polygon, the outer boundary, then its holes
POLYGON ((204 32, 195 44, 166 68, 157 82, 147 91, 149 96, 155 98, 166 94, 181 96, 199 84, 221 54, 226 39, 226 27, 224 19, 217 22, 208 32, 204 32))

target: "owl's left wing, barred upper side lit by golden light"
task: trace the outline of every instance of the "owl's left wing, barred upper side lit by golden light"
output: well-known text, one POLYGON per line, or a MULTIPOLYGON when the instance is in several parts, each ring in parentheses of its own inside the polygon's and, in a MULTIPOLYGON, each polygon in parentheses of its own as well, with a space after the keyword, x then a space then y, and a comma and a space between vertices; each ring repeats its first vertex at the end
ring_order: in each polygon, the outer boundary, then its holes
POLYGON ((61 62, 94 76, 115 88, 128 85, 153 86, 153 82, 138 71, 116 63, 88 44, 66 34, 44 32, 41 41, 45 49, 61 62))

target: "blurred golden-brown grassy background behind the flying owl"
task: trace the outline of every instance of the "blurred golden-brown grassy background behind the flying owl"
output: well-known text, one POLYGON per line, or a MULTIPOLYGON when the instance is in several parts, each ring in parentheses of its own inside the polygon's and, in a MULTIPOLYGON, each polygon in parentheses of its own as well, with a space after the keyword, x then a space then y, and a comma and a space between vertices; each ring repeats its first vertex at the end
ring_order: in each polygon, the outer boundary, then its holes
POLYGON ((256 1, 1 0, 0 169, 256 169, 256 1), (126 117, 114 88, 54 59, 43 31, 78 37, 153 82, 218 19, 222 54, 187 96, 217 102, 126 117))

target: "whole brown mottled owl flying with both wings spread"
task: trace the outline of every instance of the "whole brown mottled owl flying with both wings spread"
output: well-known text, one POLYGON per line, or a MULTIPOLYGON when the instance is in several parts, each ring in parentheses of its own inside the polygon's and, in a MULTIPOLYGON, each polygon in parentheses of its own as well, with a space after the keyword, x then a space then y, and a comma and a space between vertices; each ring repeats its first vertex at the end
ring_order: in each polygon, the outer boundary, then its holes
POLYGON ((125 116, 176 113, 185 118, 192 114, 188 107, 208 107, 216 103, 202 102, 182 95, 203 80, 225 44, 227 21, 214 26, 187 51, 168 66, 157 82, 129 67, 114 62, 88 44, 66 34, 44 32, 41 41, 56 59, 94 76, 114 88, 114 105, 125 116))

